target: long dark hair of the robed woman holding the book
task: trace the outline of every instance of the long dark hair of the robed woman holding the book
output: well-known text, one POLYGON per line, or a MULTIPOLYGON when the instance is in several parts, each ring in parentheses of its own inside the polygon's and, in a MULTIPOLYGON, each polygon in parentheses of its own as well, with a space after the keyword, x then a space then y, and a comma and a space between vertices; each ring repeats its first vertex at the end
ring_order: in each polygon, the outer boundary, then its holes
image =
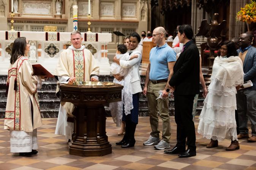
POLYGON ((19 37, 14 40, 13 48, 11 49, 11 64, 15 63, 20 56, 25 55, 26 46, 27 42, 25 37, 19 37))

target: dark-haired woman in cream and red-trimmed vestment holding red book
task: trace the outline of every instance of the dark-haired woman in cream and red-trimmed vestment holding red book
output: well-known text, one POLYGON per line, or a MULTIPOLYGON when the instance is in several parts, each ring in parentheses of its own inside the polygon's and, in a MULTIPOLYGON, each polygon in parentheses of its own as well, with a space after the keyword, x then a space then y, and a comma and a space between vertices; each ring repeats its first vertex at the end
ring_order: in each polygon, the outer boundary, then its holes
POLYGON ((20 156, 38 153, 36 129, 42 125, 38 94, 41 77, 33 76, 28 58, 30 45, 25 37, 14 40, 6 83, 4 129, 10 131, 10 151, 20 156))

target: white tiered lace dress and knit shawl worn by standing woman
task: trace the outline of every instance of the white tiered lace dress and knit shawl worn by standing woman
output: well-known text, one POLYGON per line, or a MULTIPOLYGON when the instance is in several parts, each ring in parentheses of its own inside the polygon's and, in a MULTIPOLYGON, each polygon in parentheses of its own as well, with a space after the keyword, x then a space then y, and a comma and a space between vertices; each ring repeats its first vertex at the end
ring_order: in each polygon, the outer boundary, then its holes
MULTIPOLYGON (((231 59, 235 58, 230 57, 230 59, 218 59, 220 64, 217 65, 217 61, 216 65, 213 64, 213 69, 216 69, 215 72, 220 72, 222 69, 223 73, 233 73, 234 75, 231 75, 231 77, 238 75, 234 73, 234 71, 230 71, 231 69, 228 66, 224 65, 224 61, 231 59)), ((231 62, 229 66, 232 66, 231 62)), ((242 66, 239 64, 233 65, 233 69, 239 71, 239 76, 241 74, 241 80, 237 79, 237 82, 243 82, 242 66)), ((233 141, 237 140, 235 122, 235 110, 237 109, 235 97, 237 91, 235 84, 237 82, 235 82, 234 85, 226 86, 225 83, 223 83, 225 78, 223 78, 223 81, 220 80, 220 76, 214 77, 212 75, 212 78, 213 79, 211 79, 211 83, 208 88, 209 93, 204 100, 204 107, 202 108, 201 114, 199 116, 200 121, 198 125, 198 133, 201 134, 204 138, 218 141, 223 141, 224 139, 232 139, 233 141)))

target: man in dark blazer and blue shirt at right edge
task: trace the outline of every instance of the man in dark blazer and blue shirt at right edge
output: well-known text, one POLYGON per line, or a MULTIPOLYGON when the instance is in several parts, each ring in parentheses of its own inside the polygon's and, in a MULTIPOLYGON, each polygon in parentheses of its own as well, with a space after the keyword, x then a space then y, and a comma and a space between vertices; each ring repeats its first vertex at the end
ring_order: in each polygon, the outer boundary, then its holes
POLYGON ((243 62, 243 81, 251 80, 252 87, 237 91, 237 112, 239 119, 238 139, 247 138, 249 142, 256 142, 256 48, 251 46, 253 34, 245 32, 240 35, 240 49, 237 50, 243 62), (249 138, 247 122, 251 121, 251 134, 249 138))

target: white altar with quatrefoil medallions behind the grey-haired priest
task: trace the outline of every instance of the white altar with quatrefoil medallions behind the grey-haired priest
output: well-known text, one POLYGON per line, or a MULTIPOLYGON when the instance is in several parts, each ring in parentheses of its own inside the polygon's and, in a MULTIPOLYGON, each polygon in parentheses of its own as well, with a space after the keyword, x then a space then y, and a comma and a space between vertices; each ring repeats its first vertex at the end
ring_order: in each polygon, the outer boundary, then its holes
MULTIPOLYGON (((100 67, 100 75, 110 74, 107 45, 111 33, 81 32, 85 48, 90 50, 100 67)), ((17 37, 26 37, 30 43, 29 60, 41 64, 54 74, 60 54, 70 42, 70 32, 0 31, 0 74, 7 74, 12 43, 17 37)))

